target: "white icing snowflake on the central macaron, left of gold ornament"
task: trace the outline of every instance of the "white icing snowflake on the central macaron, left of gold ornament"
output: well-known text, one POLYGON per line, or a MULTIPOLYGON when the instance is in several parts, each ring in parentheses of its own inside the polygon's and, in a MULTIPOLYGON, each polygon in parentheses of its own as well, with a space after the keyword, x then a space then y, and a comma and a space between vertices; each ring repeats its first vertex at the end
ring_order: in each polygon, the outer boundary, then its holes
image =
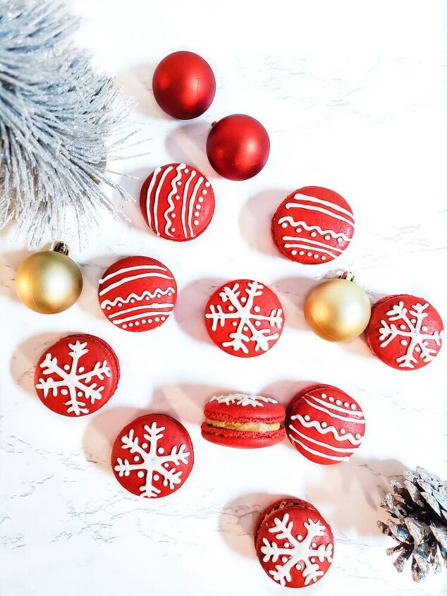
POLYGON ((271 310, 269 316, 260 315, 257 312, 259 307, 254 306, 254 303, 255 298, 262 296, 264 286, 257 281, 249 281, 247 286, 248 288, 245 289, 247 298, 245 296, 240 297, 242 292, 239 290, 239 284, 234 284, 233 288, 225 286, 224 290, 219 293, 219 296, 224 303, 229 302, 231 304, 229 307, 231 312, 224 312, 221 305, 215 307, 212 304, 209 307, 210 312, 207 312, 205 317, 212 319, 212 331, 216 331, 218 324, 224 327, 227 320, 239 320, 237 329, 230 334, 231 340, 222 343, 224 348, 231 346, 235 352, 242 350, 243 353, 247 354, 248 348, 245 343, 255 341, 256 352, 259 350, 267 352, 269 341, 278 339, 279 334, 271 333, 271 329, 257 329, 255 324, 261 321, 268 321, 272 327, 276 326, 278 329, 281 329, 281 325, 283 324, 281 314, 283 311, 281 308, 278 308, 278 310, 271 310))

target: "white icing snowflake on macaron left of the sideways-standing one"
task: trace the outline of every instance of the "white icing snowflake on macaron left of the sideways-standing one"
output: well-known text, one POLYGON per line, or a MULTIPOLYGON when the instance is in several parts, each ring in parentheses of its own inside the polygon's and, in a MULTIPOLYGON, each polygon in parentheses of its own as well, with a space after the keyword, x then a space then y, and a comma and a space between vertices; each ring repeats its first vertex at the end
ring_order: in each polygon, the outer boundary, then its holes
POLYGON ((139 478, 145 478, 145 482, 140 486, 142 497, 157 497, 160 494, 160 489, 154 486, 154 481, 159 480, 159 476, 163 477, 163 486, 168 486, 173 489, 175 485, 179 485, 180 477, 183 474, 181 470, 176 470, 176 466, 181 463, 188 463, 190 452, 187 451, 184 444, 179 447, 174 445, 169 455, 161 455, 164 452, 162 447, 157 448, 159 439, 163 437, 164 426, 157 427, 157 422, 152 422, 152 425, 145 425, 145 433, 143 437, 147 440, 145 449, 149 447, 148 451, 143 449, 142 445, 138 444, 138 437, 135 437, 133 429, 129 434, 121 437, 122 448, 129 449, 131 454, 137 454, 130 463, 128 459, 124 461, 118 457, 116 461, 118 464, 114 470, 120 476, 128 476, 131 472, 137 471, 139 478), (172 468, 168 468, 169 463, 172 463, 172 468))

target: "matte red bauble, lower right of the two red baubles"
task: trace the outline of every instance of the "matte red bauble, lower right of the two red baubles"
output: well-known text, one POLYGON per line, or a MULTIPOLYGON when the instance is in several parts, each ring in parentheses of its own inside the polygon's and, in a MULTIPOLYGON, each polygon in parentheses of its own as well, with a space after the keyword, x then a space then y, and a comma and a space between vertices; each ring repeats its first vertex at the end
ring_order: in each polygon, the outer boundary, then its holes
POLYGON ((269 152, 267 130, 245 114, 226 116, 214 123, 207 139, 209 163, 230 180, 247 180, 259 174, 269 152))

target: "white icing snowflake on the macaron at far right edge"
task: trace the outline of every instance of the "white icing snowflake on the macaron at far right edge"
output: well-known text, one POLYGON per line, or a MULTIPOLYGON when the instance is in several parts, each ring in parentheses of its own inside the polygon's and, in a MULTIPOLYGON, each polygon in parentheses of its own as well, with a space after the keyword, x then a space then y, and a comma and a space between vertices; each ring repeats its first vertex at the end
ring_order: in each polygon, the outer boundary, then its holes
POLYGON ((427 303, 416 303, 412 305, 413 310, 408 311, 401 300, 391 310, 388 310, 386 315, 388 315, 388 321, 402 321, 403 324, 397 327, 394 323, 388 324, 388 322, 381 320, 382 327, 379 329, 379 339, 382 342, 380 344, 381 348, 386 348, 388 343, 391 343, 398 336, 403 338, 400 343, 403 346, 408 346, 405 354, 396 358, 396 362, 400 367, 414 368, 415 363, 417 363, 415 352, 426 363, 433 360, 436 353, 438 353, 436 348, 429 348, 427 341, 432 340, 436 343, 436 346, 441 346, 443 332, 425 333, 427 327, 424 327, 422 323, 424 318, 428 317, 428 313, 424 312, 427 307, 427 303), (408 317, 408 313, 411 317, 408 317))

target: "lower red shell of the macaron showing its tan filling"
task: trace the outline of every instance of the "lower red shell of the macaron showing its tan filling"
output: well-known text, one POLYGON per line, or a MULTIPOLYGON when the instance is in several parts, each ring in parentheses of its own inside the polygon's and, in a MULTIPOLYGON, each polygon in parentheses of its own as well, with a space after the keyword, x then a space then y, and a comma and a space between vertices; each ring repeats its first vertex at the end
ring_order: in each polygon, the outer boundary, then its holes
POLYGON ((216 428, 202 423, 202 437, 211 443, 237 449, 257 449, 269 447, 281 443, 286 437, 283 427, 271 432, 244 432, 240 430, 228 430, 216 428))

